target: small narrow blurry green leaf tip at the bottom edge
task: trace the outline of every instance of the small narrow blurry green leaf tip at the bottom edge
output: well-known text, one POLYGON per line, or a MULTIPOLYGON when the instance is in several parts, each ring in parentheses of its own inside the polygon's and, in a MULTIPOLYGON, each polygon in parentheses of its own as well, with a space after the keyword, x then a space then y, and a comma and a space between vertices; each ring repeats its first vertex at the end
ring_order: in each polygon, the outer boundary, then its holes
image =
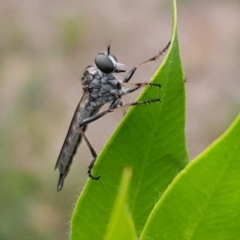
POLYGON ((133 219, 127 203, 127 194, 131 175, 132 171, 130 169, 124 169, 118 195, 113 206, 112 216, 110 218, 104 240, 137 239, 133 219))

